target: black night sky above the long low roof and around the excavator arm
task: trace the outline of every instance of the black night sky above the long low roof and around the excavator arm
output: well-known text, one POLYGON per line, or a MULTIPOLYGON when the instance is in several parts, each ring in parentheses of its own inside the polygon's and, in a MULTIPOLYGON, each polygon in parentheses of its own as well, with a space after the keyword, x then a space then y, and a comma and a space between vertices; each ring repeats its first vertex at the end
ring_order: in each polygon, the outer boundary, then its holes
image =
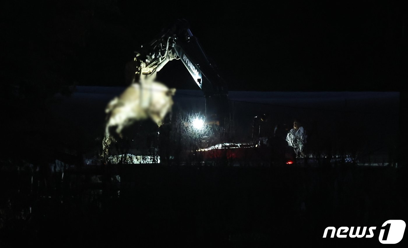
MULTIPOLYGON (((190 22, 230 90, 399 91, 406 82, 407 11, 396 3, 3 4, 2 76, 11 84, 124 86, 132 52, 176 18, 190 22)), ((158 80, 196 88, 178 61, 158 80)))

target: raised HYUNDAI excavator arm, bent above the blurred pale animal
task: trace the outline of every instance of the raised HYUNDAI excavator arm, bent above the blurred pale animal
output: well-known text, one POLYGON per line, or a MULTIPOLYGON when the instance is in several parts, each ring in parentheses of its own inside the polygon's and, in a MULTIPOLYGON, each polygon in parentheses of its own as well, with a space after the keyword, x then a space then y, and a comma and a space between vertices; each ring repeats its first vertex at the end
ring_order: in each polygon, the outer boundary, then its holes
POLYGON ((155 78, 168 62, 181 60, 195 84, 206 97, 206 120, 223 125, 228 115, 228 89, 214 64, 204 53, 200 42, 184 19, 176 20, 151 42, 134 53, 133 61, 126 65, 126 80, 130 83, 155 78))

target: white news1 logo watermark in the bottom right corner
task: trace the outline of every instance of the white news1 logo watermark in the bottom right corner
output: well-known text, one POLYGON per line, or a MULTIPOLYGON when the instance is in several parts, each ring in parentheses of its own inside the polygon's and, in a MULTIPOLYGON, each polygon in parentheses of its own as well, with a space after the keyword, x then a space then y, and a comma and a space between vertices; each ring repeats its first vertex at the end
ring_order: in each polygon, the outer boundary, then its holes
MULTIPOLYGON (((397 244, 404 237, 405 226, 405 221, 402 219, 389 219, 385 221, 381 228, 379 228, 378 241, 381 244, 397 244)), ((351 226, 350 228, 342 226, 336 231, 334 226, 328 226, 324 230, 323 237, 326 238, 330 234, 330 238, 334 238, 335 235, 338 238, 372 238, 375 236, 374 230, 377 230, 377 227, 371 226, 367 229, 367 226, 362 228, 360 226, 351 226)))

